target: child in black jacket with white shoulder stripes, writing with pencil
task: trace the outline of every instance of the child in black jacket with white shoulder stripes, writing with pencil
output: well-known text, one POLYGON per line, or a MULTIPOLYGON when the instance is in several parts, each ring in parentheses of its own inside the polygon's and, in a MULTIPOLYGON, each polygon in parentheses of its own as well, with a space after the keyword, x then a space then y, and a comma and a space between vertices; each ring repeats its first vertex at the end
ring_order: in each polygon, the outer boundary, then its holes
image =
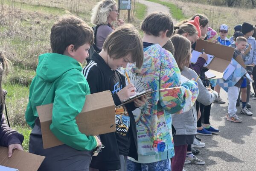
MULTIPOLYGON (((143 44, 134 26, 123 25, 107 37, 102 51, 94 52, 91 62, 83 69, 90 92, 110 90, 116 106, 134 95, 134 85, 125 86, 125 76, 118 70, 125 68, 128 62, 136 62, 136 66, 141 67, 143 44)), ((105 148, 93 157, 91 168, 126 171, 127 156, 138 158, 136 123, 131 111, 144 104, 143 97, 116 108, 116 132, 100 135, 105 148)))

